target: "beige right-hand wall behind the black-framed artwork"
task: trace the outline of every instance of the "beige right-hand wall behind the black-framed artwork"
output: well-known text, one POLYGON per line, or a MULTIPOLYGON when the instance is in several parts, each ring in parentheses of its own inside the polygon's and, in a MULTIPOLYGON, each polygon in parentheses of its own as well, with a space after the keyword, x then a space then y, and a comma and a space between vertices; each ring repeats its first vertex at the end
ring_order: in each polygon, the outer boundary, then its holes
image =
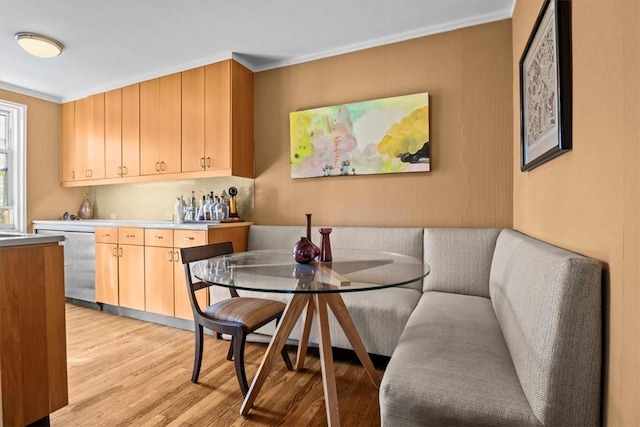
MULTIPOLYGON (((513 73, 541 8, 518 0, 513 73)), ((605 424, 640 425, 640 3, 574 1, 573 150, 519 169, 513 83, 513 223, 607 264, 605 424)))

